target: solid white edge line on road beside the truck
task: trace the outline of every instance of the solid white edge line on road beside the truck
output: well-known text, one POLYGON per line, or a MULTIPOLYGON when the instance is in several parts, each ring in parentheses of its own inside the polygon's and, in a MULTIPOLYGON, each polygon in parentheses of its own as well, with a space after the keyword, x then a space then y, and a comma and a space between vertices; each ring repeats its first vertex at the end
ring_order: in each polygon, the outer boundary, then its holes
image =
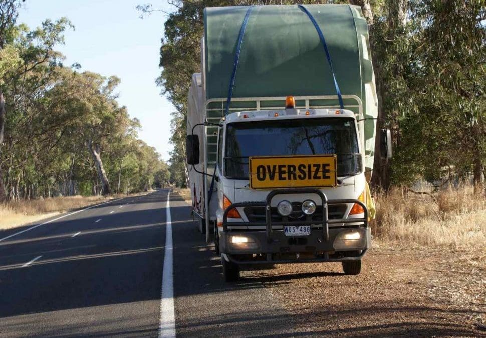
POLYGON ((167 223, 165 226, 164 268, 160 297, 159 337, 175 337, 174 277, 172 275, 172 220, 170 219, 170 192, 167 194, 167 223))

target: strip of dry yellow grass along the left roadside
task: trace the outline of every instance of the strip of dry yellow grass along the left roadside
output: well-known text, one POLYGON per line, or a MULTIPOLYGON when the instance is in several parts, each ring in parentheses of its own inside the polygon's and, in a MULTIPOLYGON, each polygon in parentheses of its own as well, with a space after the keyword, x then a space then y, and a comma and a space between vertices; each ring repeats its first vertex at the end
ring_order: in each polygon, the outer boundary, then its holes
POLYGON ((126 197, 126 195, 112 195, 109 198, 69 196, 29 201, 10 201, 6 204, 0 204, 0 230, 37 222, 44 218, 52 217, 72 209, 84 208, 89 205, 101 203, 108 199, 123 197, 126 197))

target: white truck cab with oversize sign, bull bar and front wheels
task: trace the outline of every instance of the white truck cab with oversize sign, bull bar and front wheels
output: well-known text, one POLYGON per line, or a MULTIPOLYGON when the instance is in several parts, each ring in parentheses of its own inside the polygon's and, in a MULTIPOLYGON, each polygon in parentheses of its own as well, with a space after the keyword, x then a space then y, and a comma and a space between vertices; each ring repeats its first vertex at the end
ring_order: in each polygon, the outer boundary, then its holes
POLYGON ((346 109, 243 111, 220 121, 215 243, 227 280, 268 263, 342 261, 359 273, 371 245, 359 139, 346 109))

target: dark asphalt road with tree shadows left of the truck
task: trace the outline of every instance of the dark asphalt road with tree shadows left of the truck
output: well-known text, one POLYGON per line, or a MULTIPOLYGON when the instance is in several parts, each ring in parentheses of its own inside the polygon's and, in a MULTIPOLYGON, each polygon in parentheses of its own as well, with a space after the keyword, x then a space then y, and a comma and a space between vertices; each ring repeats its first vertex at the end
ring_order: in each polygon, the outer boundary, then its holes
MULTIPOLYGON (((0 336, 157 336, 167 195, 0 232, 0 336)), ((170 215, 173 276, 164 280, 173 280, 177 336, 299 335, 258 279, 224 283, 219 258, 174 193, 170 215)))

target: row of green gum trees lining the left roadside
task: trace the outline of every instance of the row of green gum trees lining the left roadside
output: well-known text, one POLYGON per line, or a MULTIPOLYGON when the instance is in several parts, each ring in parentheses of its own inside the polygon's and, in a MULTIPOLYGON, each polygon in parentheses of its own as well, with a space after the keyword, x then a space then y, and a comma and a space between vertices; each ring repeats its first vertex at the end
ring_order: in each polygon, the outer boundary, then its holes
POLYGON ((64 43, 69 20, 46 20, 29 30, 15 24, 19 4, 0 2, 0 92, 6 99, 0 178, 8 197, 100 193, 102 177, 88 144, 114 190, 118 180, 120 192, 152 189, 156 174, 166 185, 167 165, 138 139, 140 122, 116 101, 120 79, 64 67, 54 48, 64 43))

